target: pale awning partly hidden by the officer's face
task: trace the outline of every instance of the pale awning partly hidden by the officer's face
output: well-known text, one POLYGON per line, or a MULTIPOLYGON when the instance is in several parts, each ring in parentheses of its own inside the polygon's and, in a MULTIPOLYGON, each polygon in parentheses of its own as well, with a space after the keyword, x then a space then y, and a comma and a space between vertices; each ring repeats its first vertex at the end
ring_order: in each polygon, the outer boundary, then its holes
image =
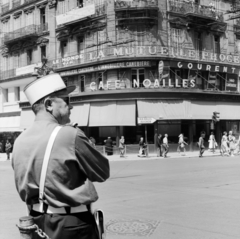
POLYGON ((70 115, 71 121, 78 123, 78 126, 88 126, 89 109, 89 103, 73 106, 70 115))

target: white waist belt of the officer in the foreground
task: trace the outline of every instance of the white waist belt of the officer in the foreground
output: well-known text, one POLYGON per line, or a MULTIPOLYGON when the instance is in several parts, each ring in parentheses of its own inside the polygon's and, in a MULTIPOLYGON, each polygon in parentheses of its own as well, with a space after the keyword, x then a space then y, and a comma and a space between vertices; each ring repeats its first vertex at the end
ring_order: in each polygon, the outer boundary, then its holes
MULTIPOLYGON (((41 208, 40 208, 40 204, 33 204, 32 206, 32 210, 36 211, 36 212, 42 212, 41 208)), ((80 205, 77 207, 70 207, 70 213, 78 213, 78 212, 87 212, 87 206, 86 205, 80 205)), ((65 207, 52 207, 48 205, 48 209, 47 209, 47 214, 67 214, 65 207)))

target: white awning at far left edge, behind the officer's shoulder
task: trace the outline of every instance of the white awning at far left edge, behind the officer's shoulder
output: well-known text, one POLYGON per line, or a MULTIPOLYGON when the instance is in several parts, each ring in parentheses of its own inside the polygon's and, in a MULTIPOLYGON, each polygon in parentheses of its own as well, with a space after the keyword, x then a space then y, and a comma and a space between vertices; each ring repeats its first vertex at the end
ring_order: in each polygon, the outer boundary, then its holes
POLYGON ((20 129, 20 116, 0 117, 0 132, 22 131, 20 129))

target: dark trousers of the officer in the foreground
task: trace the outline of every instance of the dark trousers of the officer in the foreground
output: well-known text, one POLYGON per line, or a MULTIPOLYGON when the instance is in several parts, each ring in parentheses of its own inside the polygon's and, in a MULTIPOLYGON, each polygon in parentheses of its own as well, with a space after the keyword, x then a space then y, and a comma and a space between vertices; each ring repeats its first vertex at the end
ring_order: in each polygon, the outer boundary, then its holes
MULTIPOLYGON (((90 212, 42 214, 31 211, 35 224, 51 239, 98 239, 96 224, 90 212)), ((40 239, 34 233, 33 239, 40 239)))

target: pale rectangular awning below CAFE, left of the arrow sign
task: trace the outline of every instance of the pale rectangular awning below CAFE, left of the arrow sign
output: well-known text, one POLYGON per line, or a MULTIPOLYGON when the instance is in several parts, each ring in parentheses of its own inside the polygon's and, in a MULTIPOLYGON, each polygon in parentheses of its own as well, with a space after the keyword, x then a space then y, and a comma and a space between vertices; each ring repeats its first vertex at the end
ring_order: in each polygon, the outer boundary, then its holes
POLYGON ((135 101, 91 103, 89 126, 135 126, 135 101))

